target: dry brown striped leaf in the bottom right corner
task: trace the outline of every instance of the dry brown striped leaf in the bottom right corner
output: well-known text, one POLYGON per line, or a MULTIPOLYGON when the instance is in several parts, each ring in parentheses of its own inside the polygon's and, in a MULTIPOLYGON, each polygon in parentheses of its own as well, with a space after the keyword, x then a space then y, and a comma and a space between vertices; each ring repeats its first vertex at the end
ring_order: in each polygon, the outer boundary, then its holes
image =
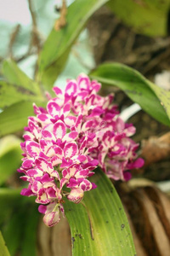
POLYGON ((147 256, 169 256, 170 200, 154 183, 134 184, 127 183, 129 190, 124 190, 122 201, 128 210, 129 223, 133 224, 137 255, 142 245, 147 256))

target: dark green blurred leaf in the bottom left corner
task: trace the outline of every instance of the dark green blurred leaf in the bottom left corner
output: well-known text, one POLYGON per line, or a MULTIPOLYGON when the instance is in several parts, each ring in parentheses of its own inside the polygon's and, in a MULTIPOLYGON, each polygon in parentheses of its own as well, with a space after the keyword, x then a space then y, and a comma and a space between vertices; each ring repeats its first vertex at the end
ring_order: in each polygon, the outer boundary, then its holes
POLYGON ((20 195, 20 189, 0 189, 0 227, 11 256, 36 256, 39 213, 35 198, 20 195))

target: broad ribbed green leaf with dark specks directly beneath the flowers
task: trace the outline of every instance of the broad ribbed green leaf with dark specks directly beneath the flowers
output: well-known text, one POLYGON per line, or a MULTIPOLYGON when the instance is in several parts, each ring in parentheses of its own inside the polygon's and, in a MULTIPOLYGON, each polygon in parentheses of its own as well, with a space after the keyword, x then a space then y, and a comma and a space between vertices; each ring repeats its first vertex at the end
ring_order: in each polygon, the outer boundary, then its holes
POLYGON ((97 170, 82 204, 65 203, 73 256, 134 256, 133 237, 119 196, 105 173, 97 170))

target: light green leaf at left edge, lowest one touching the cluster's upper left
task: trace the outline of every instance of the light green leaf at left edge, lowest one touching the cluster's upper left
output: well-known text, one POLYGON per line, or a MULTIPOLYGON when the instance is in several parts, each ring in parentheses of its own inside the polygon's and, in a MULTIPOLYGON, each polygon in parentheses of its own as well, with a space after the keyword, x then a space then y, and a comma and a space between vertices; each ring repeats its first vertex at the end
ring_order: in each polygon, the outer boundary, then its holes
MULTIPOLYGON (((36 102, 37 106, 44 107, 45 102, 36 102)), ((32 102, 18 102, 0 113, 0 137, 24 129, 28 116, 35 115, 32 102)))

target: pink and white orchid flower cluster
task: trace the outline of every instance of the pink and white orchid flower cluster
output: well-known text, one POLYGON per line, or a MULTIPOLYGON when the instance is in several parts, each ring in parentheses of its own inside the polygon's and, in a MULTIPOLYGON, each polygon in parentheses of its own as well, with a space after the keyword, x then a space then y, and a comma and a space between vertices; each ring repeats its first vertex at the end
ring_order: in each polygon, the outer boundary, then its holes
POLYGON ((127 170, 143 166, 135 153, 139 145, 129 138, 135 128, 119 118, 112 95, 97 94, 100 86, 86 75, 68 80, 64 91, 54 87, 47 109, 34 104, 37 116, 28 119, 19 172, 29 185, 21 195, 37 196, 48 226, 64 214, 65 196, 79 203, 85 191, 96 188, 88 177, 97 166, 116 180, 129 179, 127 170))

